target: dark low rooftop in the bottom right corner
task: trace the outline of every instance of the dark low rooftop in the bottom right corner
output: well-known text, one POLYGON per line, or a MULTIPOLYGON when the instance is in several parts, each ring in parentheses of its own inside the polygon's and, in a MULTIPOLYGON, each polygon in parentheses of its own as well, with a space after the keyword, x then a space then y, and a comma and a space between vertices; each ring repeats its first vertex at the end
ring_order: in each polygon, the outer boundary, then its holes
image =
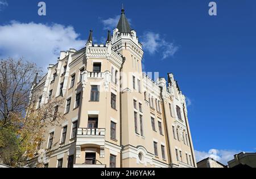
POLYGON ((228 162, 229 168, 256 168, 256 153, 234 155, 234 159, 228 162))

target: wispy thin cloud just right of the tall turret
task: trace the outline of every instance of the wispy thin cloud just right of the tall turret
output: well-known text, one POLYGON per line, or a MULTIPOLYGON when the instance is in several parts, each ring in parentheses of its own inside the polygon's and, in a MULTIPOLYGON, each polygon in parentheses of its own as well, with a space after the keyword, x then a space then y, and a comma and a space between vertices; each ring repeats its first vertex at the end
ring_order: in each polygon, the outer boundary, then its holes
POLYGON ((142 36, 143 49, 150 55, 161 53, 162 59, 174 56, 179 49, 173 42, 167 42, 159 33, 145 32, 142 36))

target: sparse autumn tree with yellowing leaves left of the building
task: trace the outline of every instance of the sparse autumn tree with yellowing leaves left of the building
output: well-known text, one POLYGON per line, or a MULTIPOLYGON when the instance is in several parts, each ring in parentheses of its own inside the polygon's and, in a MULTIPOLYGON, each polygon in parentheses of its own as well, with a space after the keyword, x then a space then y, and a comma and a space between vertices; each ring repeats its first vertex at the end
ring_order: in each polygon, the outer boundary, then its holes
POLYGON ((43 94, 36 88, 35 76, 40 72, 35 63, 22 58, 0 61, 0 162, 12 167, 26 165, 43 142, 46 126, 64 119, 57 110, 63 100, 53 99, 37 108, 43 94))

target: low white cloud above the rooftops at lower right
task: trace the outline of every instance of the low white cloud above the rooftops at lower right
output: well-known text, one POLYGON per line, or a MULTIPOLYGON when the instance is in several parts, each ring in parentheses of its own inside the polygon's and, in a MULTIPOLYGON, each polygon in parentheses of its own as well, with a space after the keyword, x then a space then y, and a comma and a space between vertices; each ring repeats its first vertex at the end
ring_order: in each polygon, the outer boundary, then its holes
POLYGON ((206 159, 207 157, 212 157, 214 160, 217 160, 224 165, 228 165, 228 161, 234 159, 234 155, 239 154, 240 152, 241 151, 237 151, 237 150, 217 150, 217 149, 211 149, 209 150, 209 152, 195 150, 195 155, 196 155, 197 162, 203 159, 206 159))

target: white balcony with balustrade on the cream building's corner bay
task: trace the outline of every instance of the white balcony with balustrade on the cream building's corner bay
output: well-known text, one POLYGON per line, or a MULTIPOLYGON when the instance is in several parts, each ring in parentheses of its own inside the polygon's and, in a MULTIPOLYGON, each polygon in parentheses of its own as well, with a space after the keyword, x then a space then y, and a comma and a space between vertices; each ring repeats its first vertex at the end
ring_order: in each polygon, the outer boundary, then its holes
POLYGON ((81 147, 88 144, 104 146, 105 131, 99 128, 79 128, 77 129, 77 145, 81 147))

